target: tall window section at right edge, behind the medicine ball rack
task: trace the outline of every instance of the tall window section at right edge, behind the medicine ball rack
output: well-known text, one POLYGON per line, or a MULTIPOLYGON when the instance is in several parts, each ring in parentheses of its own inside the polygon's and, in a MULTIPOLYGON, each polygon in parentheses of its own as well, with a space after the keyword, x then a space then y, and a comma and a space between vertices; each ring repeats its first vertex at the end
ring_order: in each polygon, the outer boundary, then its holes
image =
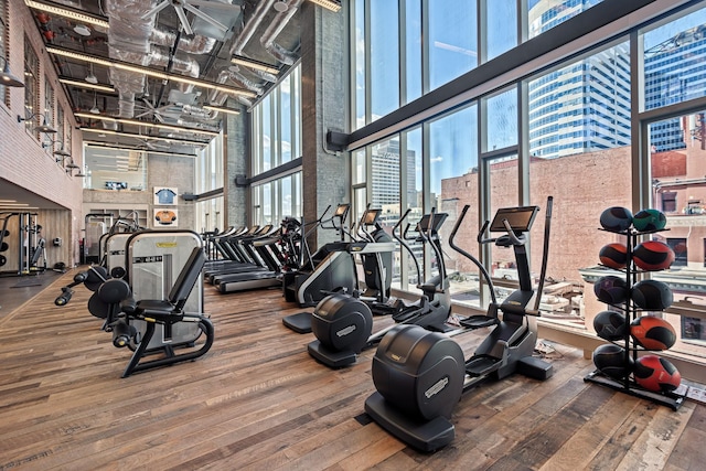
POLYGON ((666 244, 675 260, 654 279, 671 285, 678 314, 662 314, 681 334, 672 350, 699 354, 706 319, 706 12, 695 10, 641 32, 644 94, 641 130, 650 188, 645 206, 662 211, 666 229, 645 239, 666 244), (675 283, 678 281, 678 285, 675 283), (699 306, 700 304, 700 306, 699 306))

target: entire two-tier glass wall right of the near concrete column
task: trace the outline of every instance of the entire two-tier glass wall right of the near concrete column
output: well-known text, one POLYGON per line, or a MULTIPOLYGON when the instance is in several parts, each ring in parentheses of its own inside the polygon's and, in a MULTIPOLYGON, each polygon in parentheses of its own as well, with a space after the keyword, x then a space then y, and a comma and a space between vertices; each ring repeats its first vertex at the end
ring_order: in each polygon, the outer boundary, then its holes
MULTIPOLYGON (((351 11, 355 38, 361 39, 351 56, 352 121, 363 131, 376 119, 370 113, 377 106, 370 90, 379 86, 375 83, 379 78, 370 72, 371 41, 385 33, 368 31, 378 28, 370 3, 357 0, 351 11)), ((404 104, 415 99, 409 84, 419 77, 422 93, 443 87, 527 39, 553 34, 557 24, 600 2, 474 0, 454 2, 453 9, 434 8, 434 0, 399 3, 404 7, 391 18, 400 23, 387 25, 387 31, 399 35, 394 41, 399 41, 404 58, 398 78, 405 84, 399 95, 404 104), (513 21, 514 28, 509 28, 513 21), (499 34, 499 24, 507 34, 499 34), (421 60, 415 58, 417 50, 421 60)), ((397 214, 408 207, 415 208, 416 217, 431 207, 448 213, 443 243, 469 205, 457 243, 483 261, 500 295, 504 287, 513 289, 517 278, 514 257, 510 249, 475 242, 482 221, 492 220, 503 206, 539 206, 528 247, 536 282, 544 257, 547 197, 553 196, 541 322, 588 332, 595 314, 607 309, 592 292, 593 282, 610 272, 598 254, 620 237, 598 229, 600 214, 609 206, 635 212, 656 207, 666 214, 668 231, 649 238, 671 247, 675 263, 668 270, 645 276, 664 279, 674 291, 675 309, 664 315, 681 333, 675 349, 703 356, 706 303, 696 303, 693 297, 706 296, 706 286, 694 281, 706 278, 706 220, 700 220, 706 214, 702 191, 706 167, 700 163, 706 158, 706 9, 699 3, 600 46, 580 47, 563 55, 568 58, 533 65, 541 72, 517 72, 520 79, 495 77, 492 85, 471 89, 463 99, 450 99, 448 109, 438 104, 387 136, 373 127, 375 142, 363 142, 361 148, 353 143, 352 170, 364 175, 353 179, 353 192, 371 195, 365 202, 376 202, 383 195, 392 197, 394 190, 399 201, 385 204, 397 214), (408 173, 413 164, 414 178, 408 173)), ((478 270, 452 250, 445 255, 453 274, 454 302, 484 308, 488 297, 478 270)), ((404 288, 403 279, 407 286, 414 279, 413 267, 402 254, 397 260, 395 286, 404 288)), ((430 277, 436 264, 426 257, 422 267, 422 277, 430 277)))

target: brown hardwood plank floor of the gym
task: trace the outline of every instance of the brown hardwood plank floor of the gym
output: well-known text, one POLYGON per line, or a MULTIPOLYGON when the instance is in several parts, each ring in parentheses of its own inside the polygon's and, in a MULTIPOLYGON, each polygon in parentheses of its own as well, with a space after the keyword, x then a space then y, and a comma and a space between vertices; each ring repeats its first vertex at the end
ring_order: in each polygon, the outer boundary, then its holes
MULTIPOLYGON (((74 271, 75 272, 75 271, 74 271)), ((374 350, 347 368, 315 363, 312 334, 286 329, 301 311, 278 290, 220 295, 216 329, 195 362, 120 378, 113 346, 73 272, 0 319, 0 470, 700 470, 706 407, 678 411, 588 384, 592 364, 554 344, 554 376, 512 376, 469 393, 454 441, 419 453, 363 410, 374 350)), ((378 322, 378 321, 376 321, 378 322)), ((376 325, 379 325, 376 324, 376 325)), ((459 339, 472 351, 480 335, 459 339)))

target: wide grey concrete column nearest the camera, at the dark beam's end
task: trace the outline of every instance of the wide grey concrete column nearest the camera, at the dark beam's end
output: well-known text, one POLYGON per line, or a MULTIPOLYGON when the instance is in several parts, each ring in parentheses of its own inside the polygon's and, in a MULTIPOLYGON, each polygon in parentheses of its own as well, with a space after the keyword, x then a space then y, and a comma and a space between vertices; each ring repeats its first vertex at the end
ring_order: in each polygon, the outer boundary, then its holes
MULTIPOLYGON (((325 148, 327 130, 346 131, 346 36, 344 13, 311 2, 301 6, 302 181, 304 221, 330 204, 350 202, 349 154, 325 148)), ((331 213, 329 213, 331 214, 331 213)), ((336 238, 320 231, 320 246, 336 238)))

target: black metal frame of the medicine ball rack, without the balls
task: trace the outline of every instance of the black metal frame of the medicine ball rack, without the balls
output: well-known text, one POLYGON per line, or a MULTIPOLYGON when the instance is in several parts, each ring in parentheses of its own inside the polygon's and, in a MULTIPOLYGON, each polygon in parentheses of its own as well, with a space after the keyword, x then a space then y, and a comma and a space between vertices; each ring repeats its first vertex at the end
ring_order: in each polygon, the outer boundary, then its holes
MULTIPOLYGON (((623 268, 620 271, 624 271, 625 274, 625 283, 627 283, 625 289, 628 291, 628 299, 622 304, 609 304, 609 306, 611 306, 618 311, 622 311, 625 315, 624 338, 621 341, 616 341, 612 343, 616 343, 617 345, 623 347, 624 354, 625 354, 624 365, 625 365, 625 368, 629 370, 630 363, 631 363, 630 361, 632 360, 633 364, 637 362, 638 352, 648 351, 646 349, 635 344, 635 342, 632 340, 630 335, 630 323, 639 317, 640 312, 642 312, 642 309, 635 306, 631 296, 632 287, 638 281, 638 275, 641 272, 641 270, 639 270, 638 267, 634 265, 632 251, 638 245, 639 237, 648 234, 654 234, 662 231, 668 231, 668 229, 639 232, 631 227, 631 228, 628 228, 627 231, 620 231, 620 232, 607 231, 603 228, 599 231, 606 231, 611 234, 620 234, 625 236, 625 247, 627 247, 628 259, 627 259, 625 268, 623 268)), ((673 392, 654 392, 654 390, 643 388, 634 379, 631 378, 631 374, 625 375, 623 381, 618 381, 605 375, 599 370, 595 370, 593 372, 586 375, 586 377, 584 377, 584 381, 588 383, 595 383, 601 386, 610 387, 611 389, 619 390, 621 393, 625 393, 631 396, 652 400, 653 403, 670 407, 672 410, 677 410, 680 406, 684 403, 684 396, 675 394, 673 392)))

